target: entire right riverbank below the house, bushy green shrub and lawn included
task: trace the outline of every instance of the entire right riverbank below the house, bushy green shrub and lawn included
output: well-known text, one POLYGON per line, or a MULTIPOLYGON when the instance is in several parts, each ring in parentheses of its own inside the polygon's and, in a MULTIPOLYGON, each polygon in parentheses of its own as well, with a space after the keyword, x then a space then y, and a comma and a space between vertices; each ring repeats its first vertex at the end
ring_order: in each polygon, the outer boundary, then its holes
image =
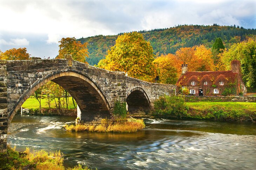
POLYGON ((256 119, 256 103, 184 102, 182 96, 161 96, 154 102, 154 116, 212 120, 256 119))

